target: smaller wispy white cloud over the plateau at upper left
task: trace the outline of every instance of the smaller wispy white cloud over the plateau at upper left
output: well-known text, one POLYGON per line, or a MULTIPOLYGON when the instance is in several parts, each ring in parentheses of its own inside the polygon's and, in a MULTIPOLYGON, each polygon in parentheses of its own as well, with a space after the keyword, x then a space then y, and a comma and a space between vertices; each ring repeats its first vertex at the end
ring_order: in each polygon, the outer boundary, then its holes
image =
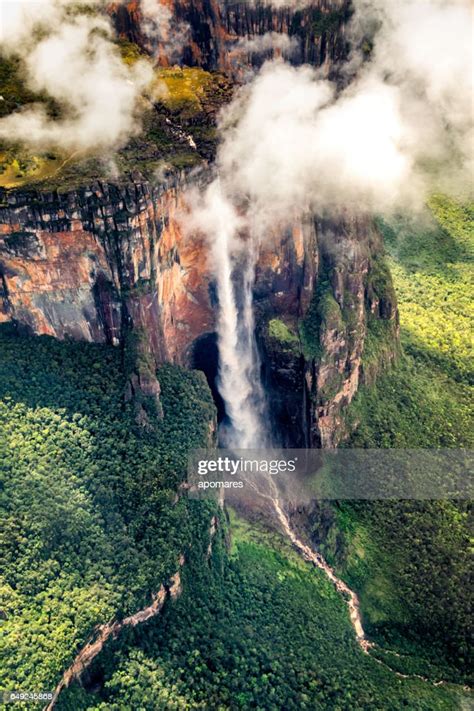
POLYGON ((41 105, 0 120, 0 139, 65 150, 113 147, 137 132, 137 104, 152 80, 145 61, 125 65, 107 17, 59 0, 5 2, 0 50, 19 56, 28 87, 64 107, 41 105))

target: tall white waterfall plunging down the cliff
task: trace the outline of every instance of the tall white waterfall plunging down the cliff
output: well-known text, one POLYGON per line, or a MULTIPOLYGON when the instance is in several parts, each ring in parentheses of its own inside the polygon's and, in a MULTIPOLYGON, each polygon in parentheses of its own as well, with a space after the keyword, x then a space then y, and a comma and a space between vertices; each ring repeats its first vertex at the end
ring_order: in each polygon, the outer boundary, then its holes
POLYGON ((228 421, 221 425, 226 447, 252 449, 268 444, 265 395, 255 341, 253 284, 256 241, 239 237, 232 205, 216 181, 208 193, 214 217, 212 258, 218 294, 218 390, 228 421))

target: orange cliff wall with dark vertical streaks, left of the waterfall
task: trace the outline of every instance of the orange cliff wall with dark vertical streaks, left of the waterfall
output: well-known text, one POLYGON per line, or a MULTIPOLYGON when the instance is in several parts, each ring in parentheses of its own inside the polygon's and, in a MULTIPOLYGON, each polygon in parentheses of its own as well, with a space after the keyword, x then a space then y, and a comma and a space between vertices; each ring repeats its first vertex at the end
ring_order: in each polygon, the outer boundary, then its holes
POLYGON ((0 209, 0 320, 112 344, 140 330, 157 362, 181 361, 213 327, 205 251, 176 221, 182 199, 172 185, 145 183, 9 193, 0 209))

